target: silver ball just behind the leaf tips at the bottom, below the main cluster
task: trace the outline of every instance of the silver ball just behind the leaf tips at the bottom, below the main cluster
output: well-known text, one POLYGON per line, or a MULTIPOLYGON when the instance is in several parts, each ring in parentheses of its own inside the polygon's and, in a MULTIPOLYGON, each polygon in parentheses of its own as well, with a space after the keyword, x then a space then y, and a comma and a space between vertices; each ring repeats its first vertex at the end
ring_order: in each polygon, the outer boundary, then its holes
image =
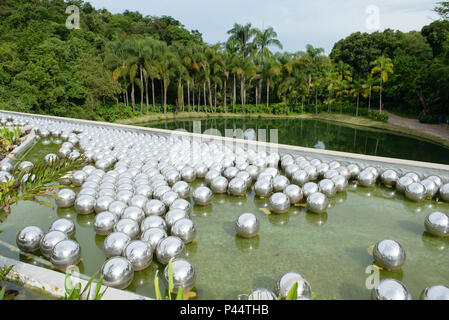
MULTIPOLYGON (((183 258, 176 258, 172 262, 173 292, 177 293, 179 288, 182 292, 188 292, 195 286, 196 273, 193 265, 183 258)), ((168 286, 169 267, 164 269, 164 281, 168 286)))

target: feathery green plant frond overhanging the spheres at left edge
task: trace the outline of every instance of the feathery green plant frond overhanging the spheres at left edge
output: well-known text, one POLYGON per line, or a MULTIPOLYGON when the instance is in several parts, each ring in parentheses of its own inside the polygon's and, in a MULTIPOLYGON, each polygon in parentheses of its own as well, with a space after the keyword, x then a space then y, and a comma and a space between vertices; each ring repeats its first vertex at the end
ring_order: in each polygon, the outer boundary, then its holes
MULTIPOLYGON (((43 159, 34 164, 30 170, 19 171, 17 166, 13 177, 0 182, 0 210, 6 209, 6 217, 11 213, 11 205, 20 200, 34 201, 53 208, 49 199, 56 198, 53 188, 61 185, 51 184, 61 179, 69 171, 78 169, 83 159, 56 159, 47 164, 43 159), (44 198, 43 200, 39 198, 44 198)), ((0 220, 0 222, 2 222, 0 220)))

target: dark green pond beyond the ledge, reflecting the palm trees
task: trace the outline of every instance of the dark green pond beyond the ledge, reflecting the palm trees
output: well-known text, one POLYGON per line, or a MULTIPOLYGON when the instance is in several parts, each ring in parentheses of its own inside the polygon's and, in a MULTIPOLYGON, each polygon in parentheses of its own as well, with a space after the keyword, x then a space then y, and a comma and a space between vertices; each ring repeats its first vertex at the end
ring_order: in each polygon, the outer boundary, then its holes
POLYGON ((449 149, 438 144, 405 135, 321 120, 214 118, 164 120, 136 125, 193 132, 193 121, 198 121, 196 126, 200 125, 200 133, 204 133, 207 129, 217 129, 222 136, 225 136, 225 129, 253 128, 256 132, 265 129, 267 142, 449 164, 449 149), (270 141, 270 129, 278 129, 278 141, 270 141))

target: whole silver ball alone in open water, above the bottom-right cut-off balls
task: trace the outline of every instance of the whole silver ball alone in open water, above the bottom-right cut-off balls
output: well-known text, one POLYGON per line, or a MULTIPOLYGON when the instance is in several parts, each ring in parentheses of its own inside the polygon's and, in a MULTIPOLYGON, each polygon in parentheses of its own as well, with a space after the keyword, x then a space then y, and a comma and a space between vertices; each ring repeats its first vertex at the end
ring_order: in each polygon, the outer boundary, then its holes
POLYGON ((374 246, 373 257, 376 264, 386 270, 399 270, 405 262, 405 251, 394 240, 381 240, 374 246))

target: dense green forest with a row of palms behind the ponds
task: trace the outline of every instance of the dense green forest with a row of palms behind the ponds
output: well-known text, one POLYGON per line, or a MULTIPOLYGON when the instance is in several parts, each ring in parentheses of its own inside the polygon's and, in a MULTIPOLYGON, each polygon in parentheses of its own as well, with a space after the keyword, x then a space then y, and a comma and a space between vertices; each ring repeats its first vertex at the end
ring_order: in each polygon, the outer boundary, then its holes
POLYGON ((326 56, 311 45, 273 52, 282 50, 275 30, 250 23, 207 44, 169 16, 112 14, 81 0, 2 0, 0 109, 107 121, 387 109, 434 122, 449 115, 449 2, 434 10, 441 19, 419 32, 353 33, 326 56), (79 29, 66 27, 69 5, 80 9, 79 29))

